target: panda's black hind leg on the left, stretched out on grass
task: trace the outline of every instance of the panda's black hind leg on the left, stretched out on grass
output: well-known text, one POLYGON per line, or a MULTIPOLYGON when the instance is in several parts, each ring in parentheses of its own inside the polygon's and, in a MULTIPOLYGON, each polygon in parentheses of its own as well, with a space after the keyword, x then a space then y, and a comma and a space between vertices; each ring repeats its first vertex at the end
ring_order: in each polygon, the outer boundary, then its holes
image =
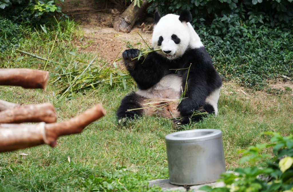
POLYGON ((117 120, 118 123, 126 123, 126 119, 133 120, 136 116, 142 116, 143 110, 138 109, 142 108, 143 98, 137 95, 134 91, 132 91, 130 94, 125 96, 121 104, 117 110, 117 120), (131 111, 127 111, 130 109, 135 109, 131 111))

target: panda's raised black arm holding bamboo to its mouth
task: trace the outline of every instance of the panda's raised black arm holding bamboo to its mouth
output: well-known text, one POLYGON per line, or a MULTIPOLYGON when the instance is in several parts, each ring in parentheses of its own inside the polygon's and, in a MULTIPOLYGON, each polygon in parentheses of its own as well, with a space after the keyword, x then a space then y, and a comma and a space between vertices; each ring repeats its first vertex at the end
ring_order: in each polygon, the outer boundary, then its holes
POLYGON ((131 60, 138 57, 138 49, 125 50, 122 53, 124 64, 133 77, 139 89, 148 89, 158 83, 169 70, 162 65, 161 58, 156 53, 149 53, 147 57, 131 60))

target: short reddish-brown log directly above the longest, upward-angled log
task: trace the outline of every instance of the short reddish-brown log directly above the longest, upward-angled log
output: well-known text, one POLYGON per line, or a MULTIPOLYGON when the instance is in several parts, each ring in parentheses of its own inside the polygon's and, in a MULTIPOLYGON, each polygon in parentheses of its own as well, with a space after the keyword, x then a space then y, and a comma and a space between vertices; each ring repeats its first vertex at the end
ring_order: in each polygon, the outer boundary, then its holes
POLYGON ((56 113, 51 103, 19 106, 0 112, 0 123, 54 123, 56 119, 56 113))

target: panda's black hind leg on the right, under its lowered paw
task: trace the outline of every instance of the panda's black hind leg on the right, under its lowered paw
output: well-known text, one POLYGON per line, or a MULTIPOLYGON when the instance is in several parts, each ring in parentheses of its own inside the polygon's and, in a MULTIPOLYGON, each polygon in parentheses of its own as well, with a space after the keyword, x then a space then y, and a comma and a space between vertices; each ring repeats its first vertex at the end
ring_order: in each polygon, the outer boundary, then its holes
POLYGON ((181 125, 189 124, 190 122, 199 122, 202 121, 208 114, 215 114, 215 108, 210 103, 205 103, 204 106, 200 108, 200 113, 207 112, 205 114, 194 114, 192 117, 184 116, 181 119, 173 120, 173 124, 175 124, 176 128, 180 128, 181 125))

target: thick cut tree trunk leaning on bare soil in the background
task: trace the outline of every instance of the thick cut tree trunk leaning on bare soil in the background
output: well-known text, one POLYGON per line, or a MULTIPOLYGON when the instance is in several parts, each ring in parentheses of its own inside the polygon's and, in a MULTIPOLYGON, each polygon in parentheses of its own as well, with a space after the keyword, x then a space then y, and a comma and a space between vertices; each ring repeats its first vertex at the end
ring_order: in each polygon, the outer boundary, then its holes
POLYGON ((127 9, 121 14, 121 16, 115 18, 113 22, 113 28, 119 32, 129 33, 139 16, 147 9, 149 2, 147 0, 142 0, 140 8, 135 5, 134 1, 127 7, 127 9))

